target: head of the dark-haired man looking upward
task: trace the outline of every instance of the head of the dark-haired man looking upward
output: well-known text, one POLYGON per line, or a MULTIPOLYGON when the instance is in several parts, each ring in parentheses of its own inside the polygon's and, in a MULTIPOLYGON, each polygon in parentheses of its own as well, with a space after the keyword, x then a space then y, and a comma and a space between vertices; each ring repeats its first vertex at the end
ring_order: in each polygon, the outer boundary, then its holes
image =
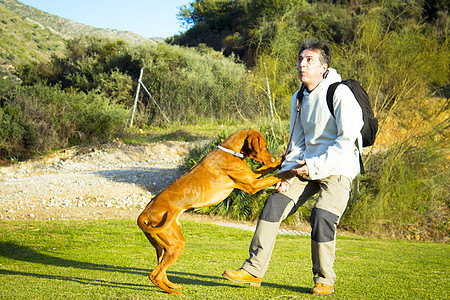
POLYGON ((323 79, 331 62, 331 49, 326 41, 308 39, 298 54, 298 76, 312 91, 323 79))

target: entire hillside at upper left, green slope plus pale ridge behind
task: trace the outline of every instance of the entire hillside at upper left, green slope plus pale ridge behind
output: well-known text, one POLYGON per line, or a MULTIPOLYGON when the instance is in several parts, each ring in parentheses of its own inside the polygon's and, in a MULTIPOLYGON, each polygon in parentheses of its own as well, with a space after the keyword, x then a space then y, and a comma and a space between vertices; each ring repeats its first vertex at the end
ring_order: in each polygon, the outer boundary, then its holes
POLYGON ((14 68, 30 61, 62 55, 65 39, 81 35, 121 39, 131 44, 161 42, 132 32, 100 29, 60 18, 15 0, 0 0, 0 85, 8 86, 14 68))

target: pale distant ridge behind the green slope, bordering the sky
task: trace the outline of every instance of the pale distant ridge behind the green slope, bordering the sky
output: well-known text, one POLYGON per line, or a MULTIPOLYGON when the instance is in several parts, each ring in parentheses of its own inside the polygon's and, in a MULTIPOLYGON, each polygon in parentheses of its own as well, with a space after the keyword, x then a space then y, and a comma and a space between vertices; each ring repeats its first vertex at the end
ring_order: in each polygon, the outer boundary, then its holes
POLYGON ((102 29, 84 25, 75 21, 51 15, 39 9, 24 5, 16 0, 0 0, 0 5, 3 5, 8 10, 26 18, 27 21, 44 28, 48 28, 50 31, 60 34, 64 38, 72 38, 80 35, 101 36, 122 39, 131 44, 139 44, 145 41, 157 42, 159 40, 147 39, 129 31, 102 29))

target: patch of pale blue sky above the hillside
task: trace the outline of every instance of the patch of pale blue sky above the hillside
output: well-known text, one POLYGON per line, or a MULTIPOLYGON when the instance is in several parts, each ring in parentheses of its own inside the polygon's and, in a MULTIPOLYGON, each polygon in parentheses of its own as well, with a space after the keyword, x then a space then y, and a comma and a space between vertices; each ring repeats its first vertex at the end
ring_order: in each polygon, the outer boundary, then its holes
POLYGON ((99 28, 128 30, 146 38, 186 31, 180 7, 194 0, 19 0, 52 15, 99 28))

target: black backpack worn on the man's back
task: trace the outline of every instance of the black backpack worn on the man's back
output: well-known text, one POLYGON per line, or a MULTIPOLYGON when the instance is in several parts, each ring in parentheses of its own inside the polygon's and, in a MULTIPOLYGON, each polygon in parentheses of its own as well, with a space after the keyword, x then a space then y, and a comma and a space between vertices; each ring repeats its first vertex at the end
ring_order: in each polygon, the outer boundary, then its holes
MULTIPOLYGON (((345 84, 346 86, 348 86, 350 90, 353 92, 353 95, 355 96, 356 100, 358 101, 359 106, 361 106, 364 120, 364 125, 361 129, 363 147, 372 146, 373 143, 375 142, 375 136, 378 131, 378 120, 375 118, 373 114, 372 106, 370 105, 369 102, 369 95, 367 95, 367 92, 362 88, 362 86, 359 84, 358 81, 354 79, 348 79, 341 82, 335 82, 328 87, 327 105, 328 109, 331 112, 331 115, 335 117, 333 107, 333 96, 339 84, 345 84)), ((361 156, 360 162, 361 162, 361 173, 364 174, 365 172, 361 156)))

